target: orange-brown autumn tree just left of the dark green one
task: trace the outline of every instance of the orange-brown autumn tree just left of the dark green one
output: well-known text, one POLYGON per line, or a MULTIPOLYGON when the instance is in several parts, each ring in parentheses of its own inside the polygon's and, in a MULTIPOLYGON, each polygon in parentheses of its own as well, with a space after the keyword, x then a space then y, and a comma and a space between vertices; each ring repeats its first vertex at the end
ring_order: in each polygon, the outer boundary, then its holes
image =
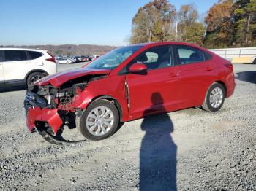
POLYGON ((206 47, 227 47, 232 45, 234 36, 233 0, 219 0, 208 11, 206 17, 206 47))

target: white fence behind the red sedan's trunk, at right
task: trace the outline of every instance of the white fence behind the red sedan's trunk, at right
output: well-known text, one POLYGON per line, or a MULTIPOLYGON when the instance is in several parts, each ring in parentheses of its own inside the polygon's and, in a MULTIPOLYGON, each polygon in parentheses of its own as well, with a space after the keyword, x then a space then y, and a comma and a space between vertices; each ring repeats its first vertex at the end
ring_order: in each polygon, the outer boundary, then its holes
POLYGON ((223 49, 209 49, 211 52, 225 58, 232 60, 233 58, 250 57, 256 56, 256 47, 245 47, 245 48, 223 48, 223 49))

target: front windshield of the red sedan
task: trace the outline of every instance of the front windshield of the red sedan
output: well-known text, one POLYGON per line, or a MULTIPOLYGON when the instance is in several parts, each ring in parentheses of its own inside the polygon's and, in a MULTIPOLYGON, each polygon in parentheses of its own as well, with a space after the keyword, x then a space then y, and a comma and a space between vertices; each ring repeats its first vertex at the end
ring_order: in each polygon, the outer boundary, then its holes
POLYGON ((120 63, 124 62, 130 55, 139 50, 142 46, 120 47, 111 50, 97 60, 92 61, 86 69, 115 69, 120 63))

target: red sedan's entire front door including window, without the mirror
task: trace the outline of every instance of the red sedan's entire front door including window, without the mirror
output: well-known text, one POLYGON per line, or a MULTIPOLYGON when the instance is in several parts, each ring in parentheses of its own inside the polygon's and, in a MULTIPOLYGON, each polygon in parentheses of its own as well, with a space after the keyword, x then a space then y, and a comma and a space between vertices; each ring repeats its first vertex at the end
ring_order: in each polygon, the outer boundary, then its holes
POLYGON ((134 118, 176 109, 179 102, 178 66, 174 66, 170 46, 153 47, 138 55, 132 63, 143 63, 145 74, 127 74, 129 112, 134 118))

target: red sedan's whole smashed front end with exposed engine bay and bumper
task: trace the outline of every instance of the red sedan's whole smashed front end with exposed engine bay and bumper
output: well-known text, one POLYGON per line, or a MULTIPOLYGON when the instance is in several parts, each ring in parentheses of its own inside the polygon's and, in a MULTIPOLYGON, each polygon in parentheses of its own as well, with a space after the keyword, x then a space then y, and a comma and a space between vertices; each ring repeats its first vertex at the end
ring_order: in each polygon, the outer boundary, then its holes
POLYGON ((105 77, 106 75, 102 74, 78 77, 65 82, 58 88, 50 84, 37 85, 37 83, 30 86, 24 101, 26 115, 34 119, 27 121, 27 125, 31 125, 29 130, 33 132, 37 129, 39 134, 50 143, 64 142, 65 140, 60 136, 62 127, 67 125, 69 128, 75 128, 75 114, 78 111, 72 107, 74 96, 82 93, 90 82, 105 77), (29 113, 29 109, 33 109, 33 117, 29 113), (40 118, 39 113, 44 114, 44 117, 40 118))

